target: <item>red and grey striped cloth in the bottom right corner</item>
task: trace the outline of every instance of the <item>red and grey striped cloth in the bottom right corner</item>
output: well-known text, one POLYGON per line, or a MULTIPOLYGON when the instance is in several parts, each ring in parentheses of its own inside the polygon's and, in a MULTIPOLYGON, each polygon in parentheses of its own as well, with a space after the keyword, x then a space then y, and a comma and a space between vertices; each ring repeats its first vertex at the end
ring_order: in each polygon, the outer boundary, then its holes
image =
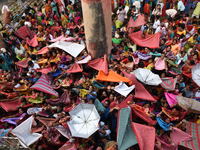
POLYGON ((192 150, 200 149, 200 124, 186 122, 187 133, 193 136, 193 140, 181 142, 180 145, 192 150))

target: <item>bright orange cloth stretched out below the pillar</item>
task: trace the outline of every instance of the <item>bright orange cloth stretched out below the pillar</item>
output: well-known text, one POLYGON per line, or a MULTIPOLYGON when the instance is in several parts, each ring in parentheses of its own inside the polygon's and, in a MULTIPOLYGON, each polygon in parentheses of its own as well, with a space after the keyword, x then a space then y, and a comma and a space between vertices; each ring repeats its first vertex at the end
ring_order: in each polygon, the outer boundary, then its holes
POLYGON ((132 84, 132 81, 128 78, 120 76, 118 73, 110 70, 109 73, 106 75, 102 70, 99 71, 96 80, 99 81, 108 81, 108 82, 128 82, 129 85, 132 84))

